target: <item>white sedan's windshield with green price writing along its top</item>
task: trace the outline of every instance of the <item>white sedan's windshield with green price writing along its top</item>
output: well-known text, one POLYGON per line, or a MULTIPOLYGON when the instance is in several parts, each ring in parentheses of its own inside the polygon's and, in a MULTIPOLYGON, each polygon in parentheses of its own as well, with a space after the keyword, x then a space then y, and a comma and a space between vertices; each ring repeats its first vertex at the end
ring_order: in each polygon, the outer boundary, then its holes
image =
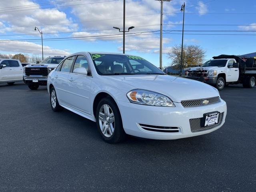
POLYGON ((100 75, 165 75, 162 70, 138 56, 118 54, 91 54, 100 75))

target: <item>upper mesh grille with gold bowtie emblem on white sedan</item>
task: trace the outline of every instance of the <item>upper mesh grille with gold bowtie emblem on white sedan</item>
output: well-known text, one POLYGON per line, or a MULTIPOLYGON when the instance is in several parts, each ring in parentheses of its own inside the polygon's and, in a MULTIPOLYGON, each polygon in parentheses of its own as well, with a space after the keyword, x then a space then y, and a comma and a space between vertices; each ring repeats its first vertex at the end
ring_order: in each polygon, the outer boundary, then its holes
POLYGON ((197 99, 197 100, 186 100, 181 101, 181 104, 183 107, 196 107, 196 106, 206 106, 214 103, 220 102, 220 97, 212 97, 212 98, 206 98, 206 99, 197 99), (204 101, 207 101, 204 103, 204 101))

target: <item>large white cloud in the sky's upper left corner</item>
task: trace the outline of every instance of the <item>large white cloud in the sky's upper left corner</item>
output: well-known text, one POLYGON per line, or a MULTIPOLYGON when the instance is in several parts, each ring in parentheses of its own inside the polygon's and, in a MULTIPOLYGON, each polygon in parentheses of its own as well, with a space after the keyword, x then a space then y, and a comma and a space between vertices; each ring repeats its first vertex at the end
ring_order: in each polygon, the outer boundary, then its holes
MULTIPOLYGON (((34 8, 40 8, 40 6, 30 0, 6 0, 1 1, 0 8, 12 7, 12 6, 25 6, 25 5, 34 5, 34 8)), ((25 9, 32 9, 25 8, 25 9)), ((20 9, 18 9, 20 10, 20 9)), ((5 23, 5 30, 19 32, 19 33, 35 33, 34 27, 38 26, 40 30, 44 33, 49 32, 73 32, 78 28, 77 24, 65 24, 58 25, 58 23, 70 23, 73 22, 72 19, 67 18, 66 13, 54 9, 38 9, 38 10, 27 10, 27 11, 15 11, 8 12, 12 10, 6 10, 4 14, 0 14, 0 20, 5 23), (45 25, 53 24, 53 25, 45 25), (28 26, 28 27, 16 27, 16 26, 28 26)))

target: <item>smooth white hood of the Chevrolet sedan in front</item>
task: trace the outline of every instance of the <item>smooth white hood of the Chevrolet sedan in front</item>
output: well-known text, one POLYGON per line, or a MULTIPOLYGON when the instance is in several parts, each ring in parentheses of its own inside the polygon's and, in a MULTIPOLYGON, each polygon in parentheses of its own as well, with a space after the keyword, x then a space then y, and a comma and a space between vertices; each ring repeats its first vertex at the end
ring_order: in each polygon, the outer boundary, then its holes
POLYGON ((220 96, 214 87, 182 77, 170 75, 121 75, 106 77, 124 82, 134 86, 134 88, 164 94, 174 102, 220 96))

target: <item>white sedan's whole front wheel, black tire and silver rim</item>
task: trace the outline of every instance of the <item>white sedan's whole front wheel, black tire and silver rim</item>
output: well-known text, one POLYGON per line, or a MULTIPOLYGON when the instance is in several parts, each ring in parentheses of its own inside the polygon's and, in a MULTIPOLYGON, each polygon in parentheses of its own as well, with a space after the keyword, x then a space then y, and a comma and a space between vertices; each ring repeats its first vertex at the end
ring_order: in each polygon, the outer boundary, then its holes
POLYGON ((112 98, 103 98, 96 110, 96 124, 103 140, 118 143, 125 139, 121 114, 112 98))

